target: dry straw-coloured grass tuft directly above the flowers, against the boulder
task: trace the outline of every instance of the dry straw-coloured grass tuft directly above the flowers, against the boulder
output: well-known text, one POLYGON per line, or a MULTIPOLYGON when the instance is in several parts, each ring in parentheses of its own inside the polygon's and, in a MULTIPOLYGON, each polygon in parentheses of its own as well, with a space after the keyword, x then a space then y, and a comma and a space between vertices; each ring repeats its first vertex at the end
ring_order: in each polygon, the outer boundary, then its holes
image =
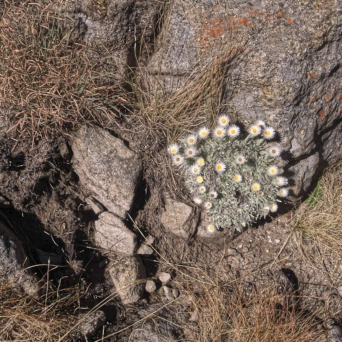
POLYGON ((178 80, 176 90, 167 91, 161 84, 163 75, 150 75, 148 70, 142 70, 135 83, 130 83, 133 102, 139 108, 139 114, 133 116, 152 136, 159 134, 170 143, 200 125, 212 126, 219 113, 226 110, 223 89, 229 87, 229 71, 237 56, 233 43, 222 44, 218 50, 209 62, 198 63, 191 75, 178 80))

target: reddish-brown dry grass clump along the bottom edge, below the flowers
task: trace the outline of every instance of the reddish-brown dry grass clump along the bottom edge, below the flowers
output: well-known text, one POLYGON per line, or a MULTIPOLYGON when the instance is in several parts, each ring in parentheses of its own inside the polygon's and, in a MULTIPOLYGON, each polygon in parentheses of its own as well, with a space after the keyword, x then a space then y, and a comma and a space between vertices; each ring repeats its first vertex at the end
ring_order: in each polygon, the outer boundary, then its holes
POLYGON ((242 286, 206 289, 193 301, 198 318, 188 341, 316 342, 321 331, 309 311, 287 310, 276 289, 246 294, 242 286))

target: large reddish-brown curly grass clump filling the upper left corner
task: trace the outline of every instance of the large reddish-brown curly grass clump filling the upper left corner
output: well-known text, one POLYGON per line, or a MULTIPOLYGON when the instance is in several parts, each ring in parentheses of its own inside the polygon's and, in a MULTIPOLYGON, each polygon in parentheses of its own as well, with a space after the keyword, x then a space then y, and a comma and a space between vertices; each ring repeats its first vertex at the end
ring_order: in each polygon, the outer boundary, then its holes
POLYGON ((76 25, 65 25, 43 2, 0 4, 0 113, 32 145, 118 115, 119 96, 102 82, 114 73, 90 61, 89 48, 71 39, 76 25))

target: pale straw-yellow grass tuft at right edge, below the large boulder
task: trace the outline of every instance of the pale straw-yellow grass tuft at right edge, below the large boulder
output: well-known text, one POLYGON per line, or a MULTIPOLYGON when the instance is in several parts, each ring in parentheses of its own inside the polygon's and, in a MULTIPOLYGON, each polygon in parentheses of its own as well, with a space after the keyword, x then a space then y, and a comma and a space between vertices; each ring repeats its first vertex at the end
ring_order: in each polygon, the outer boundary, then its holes
POLYGON ((328 168, 298 210, 292 228, 294 247, 314 267, 342 255, 342 163, 328 168))

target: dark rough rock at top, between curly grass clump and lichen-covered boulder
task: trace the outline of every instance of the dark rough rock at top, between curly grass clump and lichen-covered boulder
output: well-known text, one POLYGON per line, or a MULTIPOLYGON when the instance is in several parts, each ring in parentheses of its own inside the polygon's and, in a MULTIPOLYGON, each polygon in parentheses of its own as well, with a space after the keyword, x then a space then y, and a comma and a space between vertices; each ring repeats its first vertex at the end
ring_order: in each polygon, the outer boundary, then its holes
POLYGON ((58 13, 78 21, 79 34, 97 47, 91 49, 92 57, 110 71, 122 75, 127 67, 136 66, 136 56, 143 61, 154 50, 162 12, 157 1, 57 0, 54 4, 58 13))

